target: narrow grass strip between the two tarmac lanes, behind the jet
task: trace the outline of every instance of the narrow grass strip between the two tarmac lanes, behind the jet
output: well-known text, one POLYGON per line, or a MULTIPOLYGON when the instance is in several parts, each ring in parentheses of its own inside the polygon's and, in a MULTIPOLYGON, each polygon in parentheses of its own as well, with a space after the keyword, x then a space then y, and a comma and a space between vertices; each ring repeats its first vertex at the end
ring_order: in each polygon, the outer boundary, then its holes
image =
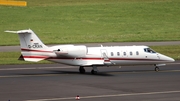
MULTIPOLYGON (((170 56, 176 60, 180 59, 180 45, 175 46, 151 46, 155 51, 162 53, 164 55, 170 56)), ((25 61, 19 61, 18 57, 20 56, 20 52, 0 52, 0 65, 5 64, 36 64, 36 62, 25 62, 25 61)), ((49 61, 40 61, 37 62, 37 64, 47 64, 52 63, 49 61)))

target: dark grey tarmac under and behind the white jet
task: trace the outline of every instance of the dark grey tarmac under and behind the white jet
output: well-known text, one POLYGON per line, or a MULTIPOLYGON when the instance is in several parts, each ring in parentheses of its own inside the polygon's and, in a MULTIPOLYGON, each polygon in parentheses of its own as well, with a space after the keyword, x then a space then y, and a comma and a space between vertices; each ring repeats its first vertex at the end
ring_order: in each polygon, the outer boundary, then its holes
MULTIPOLYGON (((102 43, 118 45, 179 45, 173 42, 102 43)), ((100 46, 99 43, 85 44, 100 46)), ((49 45, 51 46, 51 45, 49 45)), ((0 52, 20 51, 19 46, 1 46, 0 52)), ((0 65, 0 101, 179 101, 180 61, 160 67, 79 67, 62 64, 0 65)))

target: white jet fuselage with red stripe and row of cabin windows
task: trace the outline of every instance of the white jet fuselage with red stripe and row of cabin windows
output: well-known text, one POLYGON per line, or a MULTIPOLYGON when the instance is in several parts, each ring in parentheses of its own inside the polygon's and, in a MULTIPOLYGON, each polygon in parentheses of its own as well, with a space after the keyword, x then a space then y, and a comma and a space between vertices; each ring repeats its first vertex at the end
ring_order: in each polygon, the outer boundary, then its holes
MULTIPOLYGON (((68 53, 47 60, 75 66, 104 65, 155 65, 173 62, 174 59, 160 53, 145 52, 147 46, 87 47, 83 57, 68 57, 68 53)), ((53 50, 58 49, 54 46, 53 50)), ((59 52, 61 54, 61 52, 59 52)), ((55 56, 55 57, 54 57, 55 56)))

